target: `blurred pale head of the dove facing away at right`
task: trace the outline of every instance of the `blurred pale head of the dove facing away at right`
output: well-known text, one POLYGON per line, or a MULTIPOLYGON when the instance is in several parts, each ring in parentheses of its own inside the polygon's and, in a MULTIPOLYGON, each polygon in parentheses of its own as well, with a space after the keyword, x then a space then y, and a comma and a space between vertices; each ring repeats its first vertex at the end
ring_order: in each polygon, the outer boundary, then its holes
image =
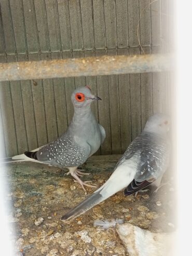
POLYGON ((148 118, 144 131, 166 134, 169 129, 170 117, 165 114, 154 114, 148 118))

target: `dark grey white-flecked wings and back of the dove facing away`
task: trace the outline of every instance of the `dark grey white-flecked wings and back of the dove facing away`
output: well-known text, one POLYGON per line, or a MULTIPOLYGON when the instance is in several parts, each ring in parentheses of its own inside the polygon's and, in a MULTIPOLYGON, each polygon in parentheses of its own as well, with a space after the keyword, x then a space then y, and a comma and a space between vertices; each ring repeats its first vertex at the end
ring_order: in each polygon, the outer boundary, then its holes
POLYGON ((131 158, 136 161, 134 180, 124 191, 125 195, 130 195, 162 176, 167 169, 168 144, 152 134, 142 133, 130 144, 122 158, 120 163, 131 158))

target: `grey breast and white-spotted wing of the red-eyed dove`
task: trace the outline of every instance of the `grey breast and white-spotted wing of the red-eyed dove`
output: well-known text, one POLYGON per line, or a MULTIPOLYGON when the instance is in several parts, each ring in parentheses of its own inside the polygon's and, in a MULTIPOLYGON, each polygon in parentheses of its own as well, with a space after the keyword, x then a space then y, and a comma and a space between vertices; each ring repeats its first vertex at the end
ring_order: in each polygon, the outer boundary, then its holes
POLYGON ((45 164, 75 167, 85 163, 101 145, 101 132, 91 111, 75 113, 67 131, 37 152, 37 159, 45 164))

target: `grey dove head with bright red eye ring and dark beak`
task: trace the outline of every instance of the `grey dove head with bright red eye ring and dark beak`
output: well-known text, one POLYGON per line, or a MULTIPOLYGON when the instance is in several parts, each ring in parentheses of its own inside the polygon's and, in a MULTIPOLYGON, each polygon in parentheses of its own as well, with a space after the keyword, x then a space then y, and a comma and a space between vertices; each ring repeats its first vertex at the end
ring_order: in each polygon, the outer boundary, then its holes
POLYGON ((84 86, 74 90, 71 100, 75 108, 86 108, 89 107, 94 100, 101 100, 101 98, 93 95, 88 86, 84 86))

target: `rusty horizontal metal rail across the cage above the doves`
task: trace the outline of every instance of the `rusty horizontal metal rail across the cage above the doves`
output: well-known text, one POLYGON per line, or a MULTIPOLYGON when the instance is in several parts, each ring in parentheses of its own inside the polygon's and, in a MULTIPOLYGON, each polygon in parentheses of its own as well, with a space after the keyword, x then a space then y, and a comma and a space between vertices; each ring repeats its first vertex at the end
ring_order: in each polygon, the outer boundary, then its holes
POLYGON ((0 81, 163 72, 172 63, 172 55, 160 54, 0 63, 0 81))

